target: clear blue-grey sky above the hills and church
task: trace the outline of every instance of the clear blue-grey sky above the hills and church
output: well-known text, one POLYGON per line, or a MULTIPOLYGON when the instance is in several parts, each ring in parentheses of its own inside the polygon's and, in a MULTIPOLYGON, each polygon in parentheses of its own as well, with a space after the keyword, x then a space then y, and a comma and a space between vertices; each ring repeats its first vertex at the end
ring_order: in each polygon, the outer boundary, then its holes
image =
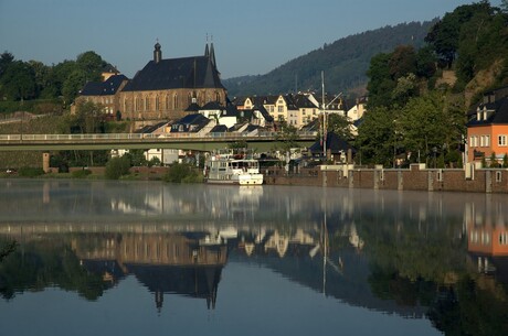
MULTIPOLYGON (((501 0, 491 0, 499 6, 501 0)), ((94 51, 133 77, 213 42, 222 78, 263 75, 325 43, 442 18, 473 0, 0 0, 0 53, 46 65, 94 51)))

